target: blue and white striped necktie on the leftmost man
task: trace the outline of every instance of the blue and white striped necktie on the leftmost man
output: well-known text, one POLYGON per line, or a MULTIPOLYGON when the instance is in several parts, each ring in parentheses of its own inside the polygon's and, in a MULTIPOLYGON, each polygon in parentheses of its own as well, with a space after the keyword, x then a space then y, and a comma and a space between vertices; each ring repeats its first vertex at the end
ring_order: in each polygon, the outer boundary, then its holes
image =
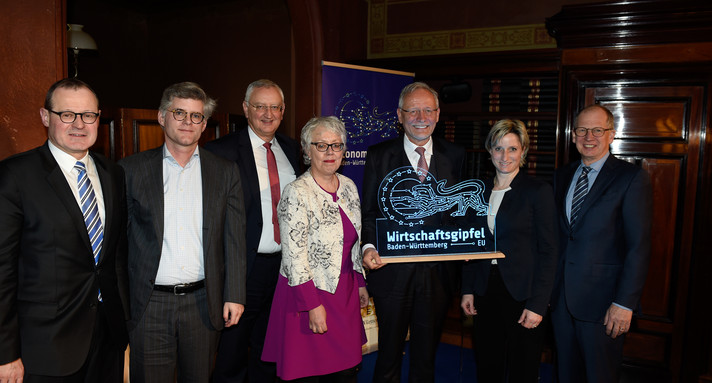
MULTIPOLYGON (((81 161, 77 161, 77 163, 74 164, 74 168, 77 169, 79 173, 77 176, 79 200, 82 207, 82 214, 84 215, 84 224, 87 226, 87 233, 89 233, 91 250, 94 253, 94 264, 96 265, 99 263, 99 254, 101 253, 101 246, 104 241, 104 227, 101 225, 96 195, 94 195, 94 187, 91 185, 86 165, 81 161)), ((100 291, 99 301, 101 300, 100 291)))

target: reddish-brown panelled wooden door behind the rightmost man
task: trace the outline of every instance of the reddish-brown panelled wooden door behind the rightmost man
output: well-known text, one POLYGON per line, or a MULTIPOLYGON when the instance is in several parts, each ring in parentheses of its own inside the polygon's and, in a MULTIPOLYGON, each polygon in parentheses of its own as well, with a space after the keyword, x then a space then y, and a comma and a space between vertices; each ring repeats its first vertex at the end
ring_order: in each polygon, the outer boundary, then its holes
MULTIPOLYGON (((571 126, 578 110, 594 103, 615 115, 611 153, 648 171, 653 187, 652 253, 641 313, 626 337, 629 365, 675 380, 683 364, 707 81, 636 71, 569 71, 571 92, 559 145, 564 162, 578 159, 571 126)), ((703 76, 704 77, 704 76, 703 76)))

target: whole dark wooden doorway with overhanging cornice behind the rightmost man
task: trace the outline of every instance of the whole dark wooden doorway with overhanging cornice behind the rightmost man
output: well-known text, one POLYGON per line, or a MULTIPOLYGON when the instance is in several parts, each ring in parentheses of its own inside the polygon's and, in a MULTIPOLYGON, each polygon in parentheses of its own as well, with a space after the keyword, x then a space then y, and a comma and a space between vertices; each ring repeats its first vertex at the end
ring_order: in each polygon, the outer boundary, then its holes
POLYGON ((712 5, 565 6, 547 21, 561 51, 558 165, 578 160, 576 113, 611 109, 611 152, 648 171, 652 254, 625 367, 651 382, 710 381, 712 5), (626 21, 627 20, 627 21, 626 21))

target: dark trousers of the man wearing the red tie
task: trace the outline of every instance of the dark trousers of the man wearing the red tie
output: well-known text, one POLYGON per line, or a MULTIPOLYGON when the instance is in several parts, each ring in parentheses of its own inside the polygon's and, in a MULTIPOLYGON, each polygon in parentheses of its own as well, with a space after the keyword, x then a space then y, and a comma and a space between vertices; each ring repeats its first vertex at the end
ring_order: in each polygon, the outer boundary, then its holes
POLYGON ((213 383, 275 381, 276 365, 263 362, 261 357, 280 263, 278 256, 255 257, 247 278, 245 312, 236 326, 224 329, 220 335, 213 383))

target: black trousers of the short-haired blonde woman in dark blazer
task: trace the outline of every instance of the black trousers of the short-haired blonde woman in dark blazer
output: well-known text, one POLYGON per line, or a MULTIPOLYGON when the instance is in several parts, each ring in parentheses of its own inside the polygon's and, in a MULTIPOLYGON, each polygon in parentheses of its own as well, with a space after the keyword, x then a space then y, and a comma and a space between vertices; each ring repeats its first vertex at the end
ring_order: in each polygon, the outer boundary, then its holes
POLYGON ((524 302, 507 291, 499 268, 493 265, 487 293, 475 296, 472 344, 478 382, 537 382, 545 327, 522 327, 524 302))

